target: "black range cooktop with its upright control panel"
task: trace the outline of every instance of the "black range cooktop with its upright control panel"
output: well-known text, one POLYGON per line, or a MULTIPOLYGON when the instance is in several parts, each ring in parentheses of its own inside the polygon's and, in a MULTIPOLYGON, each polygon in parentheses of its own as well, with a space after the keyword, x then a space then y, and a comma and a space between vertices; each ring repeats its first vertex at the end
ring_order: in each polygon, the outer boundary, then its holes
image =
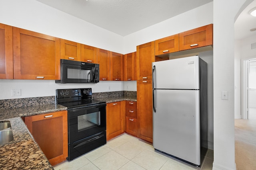
POLYGON ((92 88, 57 89, 56 103, 68 109, 106 104, 104 101, 92 99, 92 88))

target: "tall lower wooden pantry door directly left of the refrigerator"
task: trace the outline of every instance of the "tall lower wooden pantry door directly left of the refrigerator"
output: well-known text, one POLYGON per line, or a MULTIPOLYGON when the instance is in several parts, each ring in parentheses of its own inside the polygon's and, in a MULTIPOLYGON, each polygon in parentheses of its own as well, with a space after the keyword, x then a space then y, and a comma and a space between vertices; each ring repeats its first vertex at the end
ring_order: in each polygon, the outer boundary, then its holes
POLYGON ((138 137, 153 142, 152 80, 137 81, 138 137))

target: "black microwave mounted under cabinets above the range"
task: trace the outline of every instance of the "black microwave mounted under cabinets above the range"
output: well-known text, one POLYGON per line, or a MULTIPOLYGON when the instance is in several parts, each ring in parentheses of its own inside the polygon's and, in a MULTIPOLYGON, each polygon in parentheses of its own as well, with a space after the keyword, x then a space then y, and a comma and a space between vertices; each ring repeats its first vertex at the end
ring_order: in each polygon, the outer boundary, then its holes
POLYGON ((60 80, 55 83, 98 83, 99 64, 60 59, 60 80))

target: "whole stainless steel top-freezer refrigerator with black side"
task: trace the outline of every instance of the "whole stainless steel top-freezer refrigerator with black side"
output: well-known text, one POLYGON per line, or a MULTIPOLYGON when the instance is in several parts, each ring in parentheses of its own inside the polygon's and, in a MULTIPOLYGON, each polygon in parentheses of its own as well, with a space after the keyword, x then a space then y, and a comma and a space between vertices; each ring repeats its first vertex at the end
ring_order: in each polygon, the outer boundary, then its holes
POLYGON ((153 146, 200 166, 207 140, 207 63, 198 56, 152 63, 153 146))

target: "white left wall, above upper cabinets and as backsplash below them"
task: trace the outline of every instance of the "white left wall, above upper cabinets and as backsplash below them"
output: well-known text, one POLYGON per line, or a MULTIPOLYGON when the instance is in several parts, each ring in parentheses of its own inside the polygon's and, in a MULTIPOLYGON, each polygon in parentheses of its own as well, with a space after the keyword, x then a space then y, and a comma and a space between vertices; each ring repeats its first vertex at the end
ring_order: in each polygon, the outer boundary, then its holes
MULTIPOLYGON (((36 0, 0 1, 0 23, 123 53, 124 37, 36 0)), ((0 80, 0 100, 55 96, 55 90, 58 88, 80 87, 92 87, 92 92, 120 91, 124 90, 124 82, 55 84, 54 80, 0 80), (11 89, 21 89, 21 96, 11 96, 11 89)), ((134 86, 129 86, 128 90, 134 91, 134 86)))

